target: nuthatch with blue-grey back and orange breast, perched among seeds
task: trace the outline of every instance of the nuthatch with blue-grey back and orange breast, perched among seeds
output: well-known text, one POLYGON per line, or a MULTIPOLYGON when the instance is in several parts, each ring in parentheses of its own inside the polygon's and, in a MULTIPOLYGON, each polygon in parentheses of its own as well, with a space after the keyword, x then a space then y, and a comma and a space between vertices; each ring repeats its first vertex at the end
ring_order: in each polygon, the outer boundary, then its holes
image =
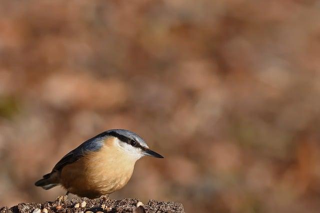
POLYGON ((34 185, 45 190, 61 185, 66 195, 98 198, 124 187, 135 162, 145 155, 163 158, 137 134, 123 129, 108 130, 66 154, 34 185))

